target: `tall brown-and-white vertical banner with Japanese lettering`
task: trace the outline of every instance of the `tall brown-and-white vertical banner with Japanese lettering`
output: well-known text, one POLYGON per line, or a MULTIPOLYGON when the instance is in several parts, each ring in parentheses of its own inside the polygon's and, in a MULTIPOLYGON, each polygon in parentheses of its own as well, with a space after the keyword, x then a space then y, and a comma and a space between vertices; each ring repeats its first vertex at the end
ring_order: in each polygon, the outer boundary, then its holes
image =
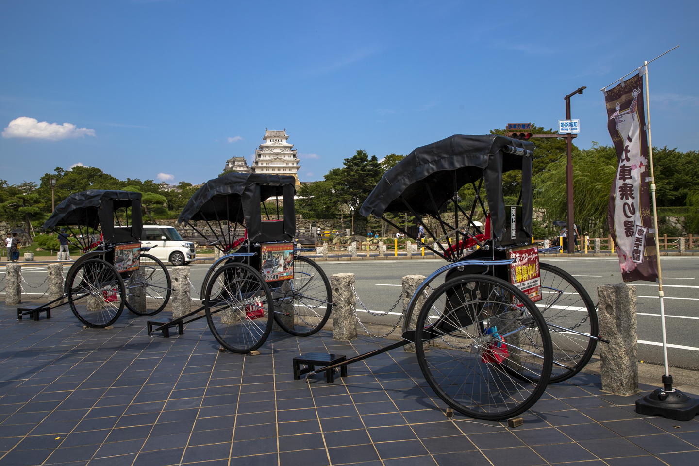
POLYGON ((658 278, 658 256, 650 206, 648 143, 643 108, 643 79, 635 75, 605 96, 607 127, 619 166, 612 182, 607 221, 619 255, 624 282, 658 278))

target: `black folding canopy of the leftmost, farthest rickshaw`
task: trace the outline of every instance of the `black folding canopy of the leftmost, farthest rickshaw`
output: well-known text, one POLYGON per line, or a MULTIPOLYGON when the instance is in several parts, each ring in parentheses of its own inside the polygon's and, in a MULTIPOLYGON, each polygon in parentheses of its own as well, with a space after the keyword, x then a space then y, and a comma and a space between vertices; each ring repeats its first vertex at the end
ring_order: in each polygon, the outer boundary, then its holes
MULTIPOLYGON (((71 194, 56 206, 43 224, 44 230, 57 226, 100 229, 106 243, 139 242, 143 231, 141 194, 131 191, 89 189, 71 194), (114 228, 114 212, 131 207, 131 228, 114 228)), ((85 231, 87 233, 87 231, 85 231)))

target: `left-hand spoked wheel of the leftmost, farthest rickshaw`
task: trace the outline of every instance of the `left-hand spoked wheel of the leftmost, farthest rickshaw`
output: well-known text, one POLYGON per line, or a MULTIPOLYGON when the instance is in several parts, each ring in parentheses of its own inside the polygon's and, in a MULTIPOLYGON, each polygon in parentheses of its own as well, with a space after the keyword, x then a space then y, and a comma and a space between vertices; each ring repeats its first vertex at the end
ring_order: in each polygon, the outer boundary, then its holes
POLYGON ((88 259, 68 273, 68 302, 75 317, 88 327, 104 328, 119 319, 126 303, 124 280, 114 265, 88 259))

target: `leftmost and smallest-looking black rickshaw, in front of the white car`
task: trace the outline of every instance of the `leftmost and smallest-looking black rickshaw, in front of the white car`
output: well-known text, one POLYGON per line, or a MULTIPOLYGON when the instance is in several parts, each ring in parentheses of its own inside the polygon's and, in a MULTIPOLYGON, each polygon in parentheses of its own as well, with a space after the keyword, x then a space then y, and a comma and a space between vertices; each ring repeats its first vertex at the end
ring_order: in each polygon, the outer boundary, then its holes
POLYGON ((167 305, 171 279, 165 265, 141 247, 141 194, 90 189, 71 194, 43 225, 45 231, 66 229, 82 255, 71 265, 64 296, 38 307, 17 310, 17 319, 59 305, 90 328, 111 326, 126 306, 139 316, 152 316, 167 305), (122 219, 124 224, 122 225, 122 219))

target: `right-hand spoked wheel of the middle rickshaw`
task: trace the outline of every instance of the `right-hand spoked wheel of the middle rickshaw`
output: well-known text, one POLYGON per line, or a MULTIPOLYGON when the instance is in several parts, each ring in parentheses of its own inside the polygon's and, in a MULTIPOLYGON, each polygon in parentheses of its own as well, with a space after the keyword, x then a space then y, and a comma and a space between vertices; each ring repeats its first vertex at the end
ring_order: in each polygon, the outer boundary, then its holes
POLYGON ((296 256, 294 279, 278 282, 274 318, 291 335, 308 337, 323 328, 333 309, 330 281, 315 261, 296 256), (290 314, 287 316, 286 314, 290 314))

